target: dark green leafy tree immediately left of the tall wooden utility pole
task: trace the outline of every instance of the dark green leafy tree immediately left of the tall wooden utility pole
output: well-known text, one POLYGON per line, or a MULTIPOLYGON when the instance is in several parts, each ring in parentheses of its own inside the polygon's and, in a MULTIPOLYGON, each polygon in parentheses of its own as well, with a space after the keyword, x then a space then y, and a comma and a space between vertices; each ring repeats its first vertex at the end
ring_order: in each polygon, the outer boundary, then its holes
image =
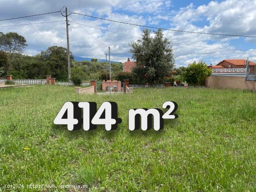
MULTIPOLYGON (((67 48, 50 46, 40 53, 40 57, 47 63, 49 73, 58 80, 67 80, 67 48)), ((74 60, 70 52, 70 60, 74 60)), ((72 65, 71 65, 72 66, 72 65)))

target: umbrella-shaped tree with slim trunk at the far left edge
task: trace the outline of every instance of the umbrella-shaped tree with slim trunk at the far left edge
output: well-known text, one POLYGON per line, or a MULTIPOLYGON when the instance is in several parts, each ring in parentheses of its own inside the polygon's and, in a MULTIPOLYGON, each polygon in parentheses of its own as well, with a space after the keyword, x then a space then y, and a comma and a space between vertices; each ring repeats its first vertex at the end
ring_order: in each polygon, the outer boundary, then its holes
POLYGON ((11 68, 11 61, 13 59, 14 53, 22 53, 23 49, 27 46, 27 40, 25 37, 19 35, 18 33, 0 33, 0 49, 9 53, 9 66, 8 71, 11 68))

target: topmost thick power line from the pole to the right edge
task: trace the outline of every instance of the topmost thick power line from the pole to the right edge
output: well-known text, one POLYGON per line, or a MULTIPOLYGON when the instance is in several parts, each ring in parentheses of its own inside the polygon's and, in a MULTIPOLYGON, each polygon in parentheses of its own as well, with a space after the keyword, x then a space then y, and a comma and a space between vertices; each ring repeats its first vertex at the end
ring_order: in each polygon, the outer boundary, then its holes
POLYGON ((117 21, 117 20, 103 19, 103 18, 100 18, 100 17, 94 17, 94 16, 91 16, 91 15, 86 15, 86 14, 81 14, 81 13, 74 13, 73 12, 73 14, 79 14, 79 15, 83 15, 83 16, 86 16, 86 17, 91 17, 91 18, 95 18, 95 19, 99 19, 99 20, 107 20, 107 21, 112 21, 112 22, 117 22, 117 23, 122 23, 122 24, 127 24, 127 25, 133 25, 133 26, 141 26, 141 27, 154 28, 154 29, 161 28, 162 30, 175 31, 175 32, 198 33, 198 34, 207 34, 207 35, 223 35, 223 36, 233 36, 233 37, 253 37, 253 38, 256 38, 256 36, 249 36, 249 35, 232 35, 232 34, 221 34, 221 33, 203 33, 203 32, 193 32, 193 31, 182 31, 182 30, 175 30, 175 29, 166 29, 166 28, 162 28, 162 27, 144 26, 144 25, 138 25, 138 24, 134 24, 134 23, 127 23, 127 22, 122 22, 122 21, 117 21))

